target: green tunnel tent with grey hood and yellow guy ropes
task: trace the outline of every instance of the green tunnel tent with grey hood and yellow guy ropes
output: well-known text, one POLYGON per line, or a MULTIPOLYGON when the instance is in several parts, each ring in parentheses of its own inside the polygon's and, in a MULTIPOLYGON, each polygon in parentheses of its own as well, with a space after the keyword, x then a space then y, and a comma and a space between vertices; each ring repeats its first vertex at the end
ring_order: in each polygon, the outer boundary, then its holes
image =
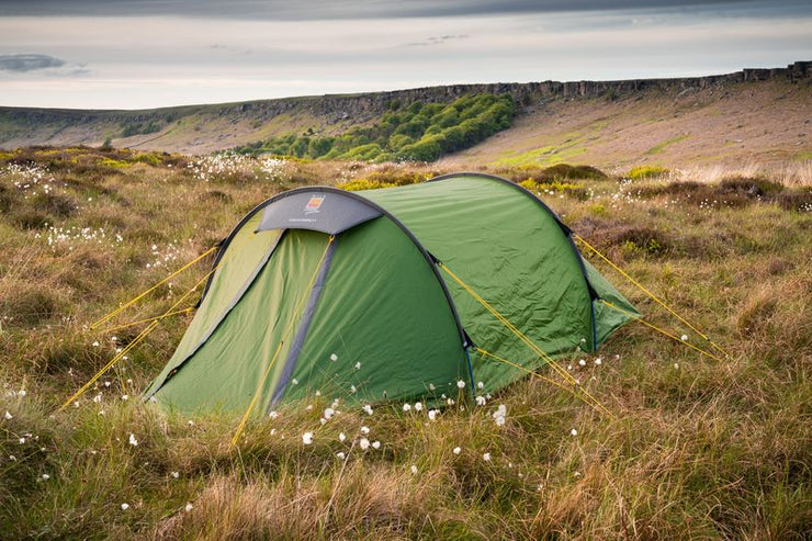
POLYGON ((636 314, 559 217, 507 180, 301 188, 253 208, 222 244, 147 396, 182 412, 253 404, 253 415, 316 392, 436 403, 460 381, 490 393, 526 375, 472 346, 544 363, 439 262, 553 358, 595 351, 629 320, 599 300, 636 314))

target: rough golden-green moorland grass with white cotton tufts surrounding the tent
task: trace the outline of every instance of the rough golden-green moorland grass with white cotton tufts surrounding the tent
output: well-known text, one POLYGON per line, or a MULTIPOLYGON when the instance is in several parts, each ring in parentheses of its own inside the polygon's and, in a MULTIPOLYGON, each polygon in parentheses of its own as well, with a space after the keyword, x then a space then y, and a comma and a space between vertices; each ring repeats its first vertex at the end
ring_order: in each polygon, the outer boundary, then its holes
MULTIPOLYGON (((0 160, 2 538, 791 540, 812 530, 812 213, 781 203, 808 196, 798 176, 498 171, 533 179, 568 226, 731 353, 718 362, 629 325, 601 364, 562 360, 613 418, 535 380, 435 420, 399 404, 372 416, 339 406, 322 426, 331 398, 313 396, 249 422, 229 451, 237 418, 189 419, 137 399, 188 316, 166 320, 78 407, 55 413, 142 328, 87 326, 278 191, 447 171, 87 148, 0 160), (578 196, 566 196, 568 184, 578 196), (362 450, 362 437, 380 447, 362 450)), ((703 345, 593 262, 652 323, 703 345)), ((204 267, 115 323, 168 308, 204 267)))

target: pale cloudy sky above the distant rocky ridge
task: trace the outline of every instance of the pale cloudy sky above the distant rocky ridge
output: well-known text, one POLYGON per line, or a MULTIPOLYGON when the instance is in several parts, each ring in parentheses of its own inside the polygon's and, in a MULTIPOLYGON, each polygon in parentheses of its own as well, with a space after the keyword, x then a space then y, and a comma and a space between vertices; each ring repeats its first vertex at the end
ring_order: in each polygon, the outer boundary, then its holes
POLYGON ((148 109, 812 59, 812 1, 0 0, 0 105, 148 109))

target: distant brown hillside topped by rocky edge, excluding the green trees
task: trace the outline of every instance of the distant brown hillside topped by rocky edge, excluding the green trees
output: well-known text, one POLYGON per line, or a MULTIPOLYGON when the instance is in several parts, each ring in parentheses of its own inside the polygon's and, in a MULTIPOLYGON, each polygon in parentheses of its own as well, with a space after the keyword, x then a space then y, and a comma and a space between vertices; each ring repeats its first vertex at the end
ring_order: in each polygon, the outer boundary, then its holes
POLYGON ((722 76, 629 81, 458 84, 144 111, 0 108, 0 147, 100 145, 188 154, 303 133, 339 135, 393 103, 510 93, 510 128, 443 164, 620 167, 812 158, 812 63, 722 76))

